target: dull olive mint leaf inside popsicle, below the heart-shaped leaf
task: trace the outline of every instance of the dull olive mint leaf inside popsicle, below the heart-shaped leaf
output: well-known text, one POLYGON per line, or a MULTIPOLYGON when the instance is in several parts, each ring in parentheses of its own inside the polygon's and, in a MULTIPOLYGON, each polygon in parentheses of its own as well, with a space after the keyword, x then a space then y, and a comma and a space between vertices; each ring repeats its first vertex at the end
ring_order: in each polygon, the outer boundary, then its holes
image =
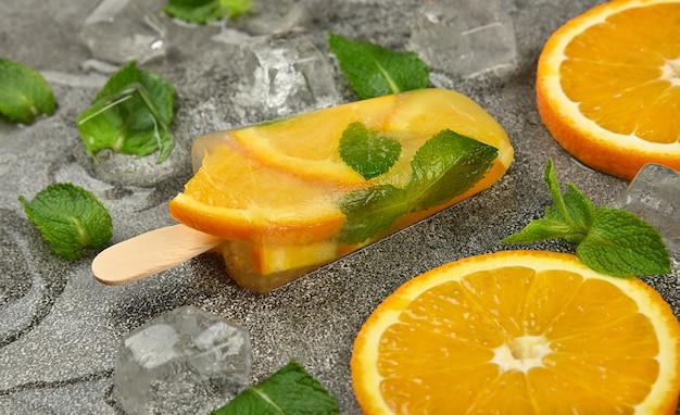
POLYGON ((347 244, 364 243, 389 229, 408 210, 406 192, 392 185, 353 190, 340 201, 347 217, 338 239, 347 244))

